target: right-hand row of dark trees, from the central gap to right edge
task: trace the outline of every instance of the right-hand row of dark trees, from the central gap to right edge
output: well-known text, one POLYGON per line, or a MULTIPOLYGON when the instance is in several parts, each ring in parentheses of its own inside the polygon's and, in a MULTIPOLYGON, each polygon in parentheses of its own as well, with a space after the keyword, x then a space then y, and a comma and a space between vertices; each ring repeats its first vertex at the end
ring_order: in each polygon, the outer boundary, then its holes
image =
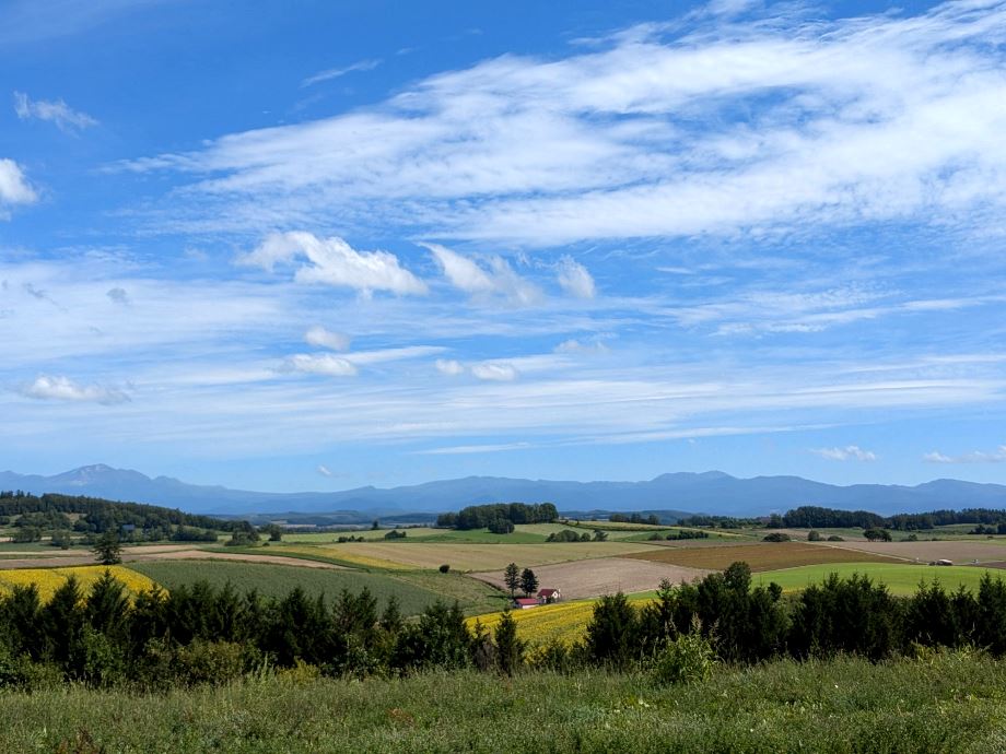
POLYGON ((678 587, 665 581, 657 599, 636 610, 622 594, 595 606, 583 651, 589 661, 624 667, 679 636, 698 633, 721 659, 752 663, 837 653, 878 661, 923 647, 975 646, 1006 655, 1006 584, 989 574, 978 593, 923 584, 896 598, 866 576, 832 574, 792 600, 779 585, 751 586, 747 564, 678 587))

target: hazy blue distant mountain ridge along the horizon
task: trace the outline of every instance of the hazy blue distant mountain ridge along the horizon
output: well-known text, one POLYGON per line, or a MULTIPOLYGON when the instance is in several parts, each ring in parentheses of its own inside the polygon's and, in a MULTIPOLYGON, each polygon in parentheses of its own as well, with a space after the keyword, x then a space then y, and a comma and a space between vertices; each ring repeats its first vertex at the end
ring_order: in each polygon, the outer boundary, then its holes
POLYGON ((169 476, 151 479, 105 464, 85 466, 55 476, 0 472, 0 490, 92 495, 151 503, 189 513, 264 514, 296 511, 443 513, 498 502, 554 503, 564 510, 677 510, 724 516, 764 516, 800 505, 889 516, 938 508, 1006 508, 1006 485, 940 479, 916 486, 839 486, 799 476, 737 479, 722 471, 667 473, 643 482, 562 482, 468 476, 382 490, 268 493, 186 484, 169 476))

